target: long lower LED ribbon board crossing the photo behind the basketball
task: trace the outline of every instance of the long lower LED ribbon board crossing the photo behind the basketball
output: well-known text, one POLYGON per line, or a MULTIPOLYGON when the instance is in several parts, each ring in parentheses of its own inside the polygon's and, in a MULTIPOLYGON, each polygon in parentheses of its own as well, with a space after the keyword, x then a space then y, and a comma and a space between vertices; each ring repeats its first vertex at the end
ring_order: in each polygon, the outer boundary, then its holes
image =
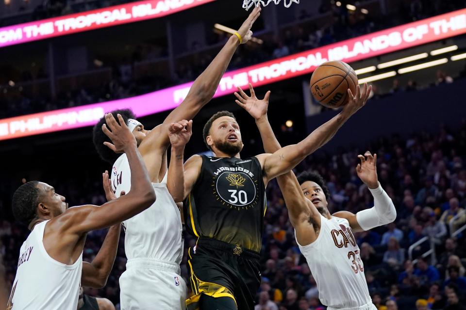
MULTIPOLYGON (((227 72, 214 97, 234 93, 236 86, 247 86, 248 83, 261 86, 309 74, 322 62, 354 62, 463 33, 466 33, 466 9, 227 72)), ((0 120, 0 140, 94 125, 104 113, 114 109, 131 107, 138 117, 174 109, 186 97, 192 84, 132 98, 3 119, 0 120)))

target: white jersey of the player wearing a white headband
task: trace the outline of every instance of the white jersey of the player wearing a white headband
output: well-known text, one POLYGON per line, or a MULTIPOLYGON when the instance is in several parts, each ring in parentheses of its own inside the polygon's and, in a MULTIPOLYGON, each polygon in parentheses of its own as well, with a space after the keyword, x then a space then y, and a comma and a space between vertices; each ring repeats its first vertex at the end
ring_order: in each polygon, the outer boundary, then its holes
MULTIPOLYGON (((183 258, 183 225, 180 210, 162 183, 152 183, 156 200, 145 211, 123 222, 126 257, 158 259, 180 264, 183 258)), ((113 165, 112 187, 118 197, 131 189, 131 171, 126 154, 113 165)))

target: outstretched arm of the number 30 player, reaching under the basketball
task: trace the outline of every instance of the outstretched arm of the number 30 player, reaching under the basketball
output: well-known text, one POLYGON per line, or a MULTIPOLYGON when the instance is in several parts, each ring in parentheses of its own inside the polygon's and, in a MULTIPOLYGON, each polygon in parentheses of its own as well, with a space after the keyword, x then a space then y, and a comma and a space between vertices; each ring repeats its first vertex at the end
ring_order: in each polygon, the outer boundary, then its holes
POLYGON ((353 115, 361 109, 369 97, 371 87, 364 85, 360 92, 359 85, 356 87, 356 95, 353 96, 348 90, 350 100, 343 110, 327 123, 314 130, 306 139, 298 144, 285 146, 272 155, 260 155, 259 160, 263 162, 263 170, 266 176, 265 182, 282 175, 296 167, 306 156, 310 155, 322 145, 327 143, 338 129, 353 115))

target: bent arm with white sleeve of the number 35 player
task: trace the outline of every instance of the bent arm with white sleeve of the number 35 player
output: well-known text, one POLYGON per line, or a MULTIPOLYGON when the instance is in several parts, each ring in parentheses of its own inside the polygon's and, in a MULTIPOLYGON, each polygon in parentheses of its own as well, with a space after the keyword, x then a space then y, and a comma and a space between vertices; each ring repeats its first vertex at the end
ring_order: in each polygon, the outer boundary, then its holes
POLYGON ((368 231, 393 222, 397 218, 397 210, 377 179, 377 154, 372 156, 367 151, 364 156, 358 155, 358 158, 361 163, 356 167, 356 172, 374 197, 374 206, 357 214, 340 211, 333 216, 348 219, 351 228, 355 231, 368 231))

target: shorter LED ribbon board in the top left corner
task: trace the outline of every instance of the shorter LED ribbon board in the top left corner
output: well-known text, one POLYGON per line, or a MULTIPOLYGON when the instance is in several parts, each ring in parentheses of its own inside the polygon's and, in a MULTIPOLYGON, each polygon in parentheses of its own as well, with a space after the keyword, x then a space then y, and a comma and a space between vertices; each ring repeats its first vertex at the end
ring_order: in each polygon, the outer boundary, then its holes
POLYGON ((167 16, 215 0, 146 0, 0 28, 0 47, 167 16))

